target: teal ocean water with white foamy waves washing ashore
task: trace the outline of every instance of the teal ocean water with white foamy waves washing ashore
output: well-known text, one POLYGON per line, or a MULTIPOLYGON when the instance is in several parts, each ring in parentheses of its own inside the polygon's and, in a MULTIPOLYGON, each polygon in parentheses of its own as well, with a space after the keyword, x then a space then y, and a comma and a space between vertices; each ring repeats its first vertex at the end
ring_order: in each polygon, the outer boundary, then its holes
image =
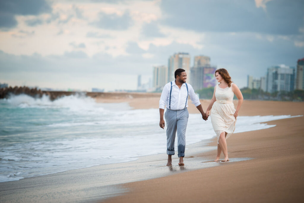
MULTIPOLYGON (((281 116, 238 117, 235 133, 271 128, 281 116)), ((210 119, 190 114, 186 145, 215 135, 210 119)), ((177 140, 176 140, 177 143, 177 140)), ((177 149, 177 146, 176 146, 177 149)), ((0 100, 0 182, 166 153, 159 110, 128 103, 96 103, 83 95, 0 100)))

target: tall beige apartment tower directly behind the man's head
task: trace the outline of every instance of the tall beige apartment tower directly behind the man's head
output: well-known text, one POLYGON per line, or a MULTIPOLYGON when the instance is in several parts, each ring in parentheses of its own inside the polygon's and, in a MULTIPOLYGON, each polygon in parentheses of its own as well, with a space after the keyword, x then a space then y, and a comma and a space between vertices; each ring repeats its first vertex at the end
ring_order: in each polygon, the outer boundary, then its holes
POLYGON ((188 53, 175 53, 168 60, 168 78, 167 82, 174 80, 174 72, 176 69, 182 68, 187 73, 187 82, 190 83, 190 55, 188 53))

